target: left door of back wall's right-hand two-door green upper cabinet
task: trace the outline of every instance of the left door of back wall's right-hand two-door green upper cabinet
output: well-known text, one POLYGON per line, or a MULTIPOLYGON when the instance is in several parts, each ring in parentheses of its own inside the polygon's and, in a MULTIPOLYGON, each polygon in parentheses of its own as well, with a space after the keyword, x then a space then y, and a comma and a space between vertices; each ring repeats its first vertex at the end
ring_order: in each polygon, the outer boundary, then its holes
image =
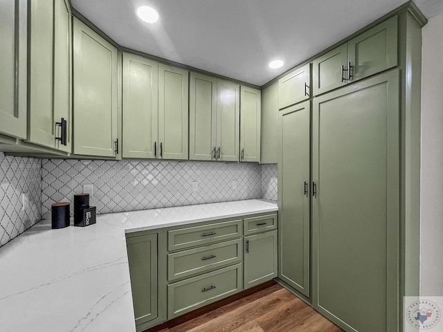
POLYGON ((189 158, 215 160, 217 78, 190 74, 189 158))

